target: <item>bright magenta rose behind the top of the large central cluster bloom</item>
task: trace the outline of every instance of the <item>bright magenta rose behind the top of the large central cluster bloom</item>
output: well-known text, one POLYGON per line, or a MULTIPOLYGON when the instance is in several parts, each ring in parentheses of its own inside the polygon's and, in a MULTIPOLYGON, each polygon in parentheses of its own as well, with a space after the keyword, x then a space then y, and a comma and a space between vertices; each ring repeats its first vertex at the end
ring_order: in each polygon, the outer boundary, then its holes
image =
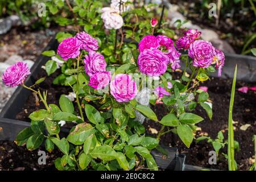
POLYGON ((139 42, 139 52, 144 51, 144 49, 158 48, 159 46, 158 40, 154 35, 146 35, 141 42, 139 42))

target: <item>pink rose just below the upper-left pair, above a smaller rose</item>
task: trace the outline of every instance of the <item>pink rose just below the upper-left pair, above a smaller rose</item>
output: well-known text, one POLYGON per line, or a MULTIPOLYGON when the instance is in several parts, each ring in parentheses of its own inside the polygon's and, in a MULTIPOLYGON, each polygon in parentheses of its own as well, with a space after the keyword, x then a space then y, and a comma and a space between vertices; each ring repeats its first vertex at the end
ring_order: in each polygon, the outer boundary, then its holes
POLYGON ((94 73, 106 71, 106 61, 104 56, 98 52, 90 51, 89 55, 85 55, 84 63, 85 73, 89 76, 92 76, 94 73))

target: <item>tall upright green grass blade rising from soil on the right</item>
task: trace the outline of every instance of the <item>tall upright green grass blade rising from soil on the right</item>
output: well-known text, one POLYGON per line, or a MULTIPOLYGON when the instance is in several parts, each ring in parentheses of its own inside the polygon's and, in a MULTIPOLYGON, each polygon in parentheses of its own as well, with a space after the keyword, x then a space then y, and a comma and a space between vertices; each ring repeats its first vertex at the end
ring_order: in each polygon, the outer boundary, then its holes
POLYGON ((234 160, 234 130, 233 130, 233 119, 232 111, 234 105, 234 95, 236 89, 236 79, 237 79, 237 65, 234 71, 234 79, 232 84, 232 91, 229 104, 229 134, 228 134, 228 164, 229 171, 236 171, 236 161, 234 160))

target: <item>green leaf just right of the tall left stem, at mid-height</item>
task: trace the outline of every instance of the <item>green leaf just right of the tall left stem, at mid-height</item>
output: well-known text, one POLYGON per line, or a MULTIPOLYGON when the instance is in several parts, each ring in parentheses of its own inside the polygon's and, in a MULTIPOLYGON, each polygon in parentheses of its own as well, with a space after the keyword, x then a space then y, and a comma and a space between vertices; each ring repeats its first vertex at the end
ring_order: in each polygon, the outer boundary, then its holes
POLYGON ((98 123, 104 122, 104 118, 101 117, 100 112, 95 109, 92 105, 85 104, 85 114, 90 122, 97 125, 98 123))

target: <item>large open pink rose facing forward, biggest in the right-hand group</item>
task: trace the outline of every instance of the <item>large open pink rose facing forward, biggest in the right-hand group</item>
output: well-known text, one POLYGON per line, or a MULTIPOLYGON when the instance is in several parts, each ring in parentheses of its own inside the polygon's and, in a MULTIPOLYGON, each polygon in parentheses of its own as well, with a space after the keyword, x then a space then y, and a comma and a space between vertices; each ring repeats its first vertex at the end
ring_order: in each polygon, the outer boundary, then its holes
POLYGON ((214 47, 205 40, 196 40, 190 45, 188 56, 193 59, 194 67, 207 68, 213 61, 214 47))

